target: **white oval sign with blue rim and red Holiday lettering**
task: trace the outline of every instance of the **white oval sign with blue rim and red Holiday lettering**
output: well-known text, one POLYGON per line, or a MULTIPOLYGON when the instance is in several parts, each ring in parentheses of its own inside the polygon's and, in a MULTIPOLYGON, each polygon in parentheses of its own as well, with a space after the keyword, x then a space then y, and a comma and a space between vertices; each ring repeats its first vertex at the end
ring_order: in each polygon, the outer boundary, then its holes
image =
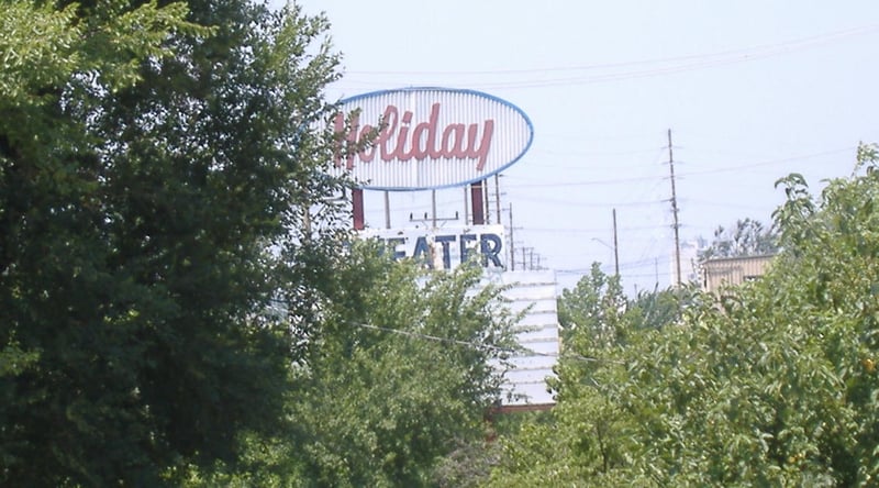
POLYGON ((512 103, 474 90, 427 87, 342 100, 335 130, 349 143, 377 134, 357 153, 340 152, 335 168, 365 189, 390 191, 486 179, 518 162, 534 138, 531 120, 512 103))

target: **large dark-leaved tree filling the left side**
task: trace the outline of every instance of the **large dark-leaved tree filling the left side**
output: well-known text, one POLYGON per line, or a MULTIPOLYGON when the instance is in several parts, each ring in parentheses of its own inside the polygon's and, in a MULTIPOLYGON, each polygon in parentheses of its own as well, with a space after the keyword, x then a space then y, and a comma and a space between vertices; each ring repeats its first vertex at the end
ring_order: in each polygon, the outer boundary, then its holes
POLYGON ((344 186, 322 171, 332 134, 308 129, 332 112, 326 21, 2 4, 0 484, 234 465, 289 426, 296 337, 271 302, 316 288, 324 260, 297 258, 334 242, 307 225, 344 186))

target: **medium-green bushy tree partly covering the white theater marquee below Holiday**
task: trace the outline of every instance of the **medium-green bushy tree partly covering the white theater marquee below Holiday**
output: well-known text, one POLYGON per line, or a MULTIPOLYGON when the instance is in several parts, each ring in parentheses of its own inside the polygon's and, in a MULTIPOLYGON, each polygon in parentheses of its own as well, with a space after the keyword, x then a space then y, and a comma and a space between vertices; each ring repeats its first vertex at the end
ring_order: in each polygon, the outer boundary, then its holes
POLYGON ((513 351, 501 289, 481 269, 425 271, 355 245, 324 289, 322 326, 296 367, 289 441, 248 474, 205 486, 434 486, 459 451, 483 450, 485 418, 513 351), (266 474, 272 478, 266 478, 266 474))

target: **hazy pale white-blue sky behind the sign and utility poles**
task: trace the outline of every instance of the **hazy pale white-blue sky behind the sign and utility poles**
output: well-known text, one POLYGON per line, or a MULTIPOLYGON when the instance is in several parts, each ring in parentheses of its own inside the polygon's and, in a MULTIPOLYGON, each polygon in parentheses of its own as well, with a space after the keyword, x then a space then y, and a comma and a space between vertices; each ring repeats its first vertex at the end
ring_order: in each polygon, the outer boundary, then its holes
MULTIPOLYGON (((875 0, 299 3, 326 13, 344 55, 333 99, 468 88, 528 114, 534 143, 501 178, 502 203, 516 245, 565 286, 596 260, 613 271, 614 208, 626 289, 668 286, 669 129, 682 240, 746 217, 768 223, 778 178, 801 173, 817 189, 850 174, 858 141, 879 142, 875 0)), ((437 199, 450 213, 461 197, 437 199)), ((431 199, 391 202, 404 226, 431 199)), ((367 206, 367 222, 383 225, 381 195, 367 206)))

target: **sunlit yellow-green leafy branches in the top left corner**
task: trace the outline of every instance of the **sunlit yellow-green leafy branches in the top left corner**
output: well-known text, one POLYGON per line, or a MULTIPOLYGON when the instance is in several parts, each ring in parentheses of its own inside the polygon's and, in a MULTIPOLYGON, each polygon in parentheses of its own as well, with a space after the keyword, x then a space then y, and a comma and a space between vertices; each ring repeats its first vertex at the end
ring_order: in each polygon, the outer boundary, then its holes
POLYGON ((54 89, 91 74, 108 89, 130 87, 140 63, 174 54, 165 42, 175 33, 210 34, 186 22, 186 3, 158 7, 109 0, 93 8, 4 0, 0 13, 0 91, 9 106, 55 102, 54 89))

